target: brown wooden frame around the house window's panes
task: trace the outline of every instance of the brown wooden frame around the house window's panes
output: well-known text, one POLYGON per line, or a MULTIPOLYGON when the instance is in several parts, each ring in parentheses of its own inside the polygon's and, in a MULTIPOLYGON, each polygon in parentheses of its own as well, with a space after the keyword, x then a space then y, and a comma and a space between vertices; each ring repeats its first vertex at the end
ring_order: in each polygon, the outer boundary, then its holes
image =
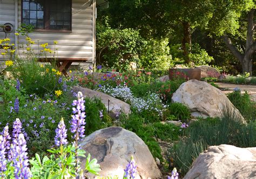
MULTIPOLYGON (((48 8, 44 9, 44 17, 43 17, 43 21, 44 21, 44 28, 35 28, 34 31, 35 32, 72 32, 72 4, 73 1, 70 0, 70 30, 67 29, 49 29, 50 27, 50 17, 49 17, 49 1, 51 0, 44 0, 45 1, 45 6, 48 8)), ((21 2, 21 23, 23 23, 23 0, 20 1, 21 2)))

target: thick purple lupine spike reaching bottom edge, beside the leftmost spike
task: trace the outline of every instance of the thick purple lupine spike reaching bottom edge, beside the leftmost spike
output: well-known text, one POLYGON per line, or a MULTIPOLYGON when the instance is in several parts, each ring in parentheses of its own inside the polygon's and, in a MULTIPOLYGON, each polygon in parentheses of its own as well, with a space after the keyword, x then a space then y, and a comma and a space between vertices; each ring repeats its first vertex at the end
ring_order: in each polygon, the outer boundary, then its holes
POLYGON ((14 174, 15 178, 29 178, 31 173, 29 170, 28 153, 26 153, 26 140, 23 133, 18 134, 17 139, 14 140, 16 144, 13 148, 14 151, 14 174))

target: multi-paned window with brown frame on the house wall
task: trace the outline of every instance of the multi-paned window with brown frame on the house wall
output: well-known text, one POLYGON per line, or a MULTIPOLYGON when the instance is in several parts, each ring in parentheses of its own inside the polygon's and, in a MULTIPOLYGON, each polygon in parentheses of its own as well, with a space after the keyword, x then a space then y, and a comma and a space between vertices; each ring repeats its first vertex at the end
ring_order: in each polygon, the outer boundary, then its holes
POLYGON ((71 0, 22 0, 22 22, 37 29, 71 30, 71 0))

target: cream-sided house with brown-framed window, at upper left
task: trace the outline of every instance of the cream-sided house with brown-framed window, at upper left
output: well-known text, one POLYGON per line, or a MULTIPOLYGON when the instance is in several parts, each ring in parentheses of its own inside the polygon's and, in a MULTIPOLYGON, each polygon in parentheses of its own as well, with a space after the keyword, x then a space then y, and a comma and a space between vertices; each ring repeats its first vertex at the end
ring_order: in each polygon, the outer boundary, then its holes
MULTIPOLYGON (((106 5, 107 1, 97 0, 97 3, 106 5)), ((24 43, 25 37, 15 32, 25 23, 35 26, 35 31, 29 34, 36 42, 32 46, 35 51, 38 44, 47 42, 52 49, 53 41, 58 41, 58 58, 87 60, 72 65, 95 63, 96 0, 0 0, 0 25, 5 23, 14 26, 14 31, 6 38, 11 39, 10 44, 15 44, 16 51, 22 50, 18 43, 24 43)), ((0 27, 0 39, 4 37, 0 27)))

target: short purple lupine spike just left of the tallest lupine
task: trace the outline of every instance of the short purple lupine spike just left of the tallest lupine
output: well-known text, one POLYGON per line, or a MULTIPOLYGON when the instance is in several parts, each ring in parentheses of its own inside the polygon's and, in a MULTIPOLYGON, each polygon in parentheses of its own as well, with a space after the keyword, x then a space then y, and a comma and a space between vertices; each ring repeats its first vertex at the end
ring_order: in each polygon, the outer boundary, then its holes
POLYGON ((54 141, 55 141, 56 146, 68 144, 68 141, 66 140, 66 136, 67 136, 66 132, 67 131, 68 130, 66 130, 66 126, 65 126, 64 120, 62 118, 62 119, 60 119, 58 127, 55 130, 56 135, 55 135, 54 141))

